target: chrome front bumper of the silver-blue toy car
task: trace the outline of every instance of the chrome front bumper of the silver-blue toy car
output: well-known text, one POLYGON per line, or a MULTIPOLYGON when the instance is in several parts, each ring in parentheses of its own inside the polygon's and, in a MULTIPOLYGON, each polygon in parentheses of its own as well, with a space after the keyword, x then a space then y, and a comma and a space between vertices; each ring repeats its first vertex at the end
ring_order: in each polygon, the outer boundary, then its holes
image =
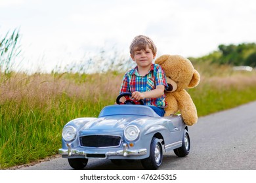
POLYGON ((106 159, 110 156, 144 156, 146 155, 146 148, 138 149, 138 150, 129 150, 128 145, 126 143, 123 144, 123 149, 116 151, 106 151, 95 152, 95 151, 87 151, 87 150, 79 150, 72 148, 70 144, 67 144, 68 149, 59 149, 58 153, 62 155, 63 158, 72 158, 72 157, 83 157, 83 158, 102 158, 106 159))

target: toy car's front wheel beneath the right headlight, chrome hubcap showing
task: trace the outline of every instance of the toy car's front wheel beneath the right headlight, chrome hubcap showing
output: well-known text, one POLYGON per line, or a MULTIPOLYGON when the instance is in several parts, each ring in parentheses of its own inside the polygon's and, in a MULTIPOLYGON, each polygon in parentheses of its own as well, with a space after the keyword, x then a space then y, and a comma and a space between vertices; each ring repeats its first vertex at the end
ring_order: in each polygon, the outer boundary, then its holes
POLYGON ((154 170, 160 167, 163 161, 163 149, 161 147, 160 139, 153 138, 150 144, 150 156, 146 159, 141 159, 144 169, 154 170))

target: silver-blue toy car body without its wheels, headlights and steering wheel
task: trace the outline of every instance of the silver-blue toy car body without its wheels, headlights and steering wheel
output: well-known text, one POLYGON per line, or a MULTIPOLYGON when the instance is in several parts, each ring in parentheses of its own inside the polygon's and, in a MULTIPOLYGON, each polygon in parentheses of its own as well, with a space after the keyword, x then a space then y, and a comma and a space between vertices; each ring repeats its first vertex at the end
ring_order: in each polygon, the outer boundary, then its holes
POLYGON ((163 151, 168 152, 182 146, 187 130, 180 115, 160 117, 145 105, 110 105, 98 118, 77 118, 67 126, 74 128, 75 138, 69 142, 62 138, 62 158, 145 159, 153 137, 162 139, 163 151), (128 126, 139 129, 134 141, 125 138, 128 126))

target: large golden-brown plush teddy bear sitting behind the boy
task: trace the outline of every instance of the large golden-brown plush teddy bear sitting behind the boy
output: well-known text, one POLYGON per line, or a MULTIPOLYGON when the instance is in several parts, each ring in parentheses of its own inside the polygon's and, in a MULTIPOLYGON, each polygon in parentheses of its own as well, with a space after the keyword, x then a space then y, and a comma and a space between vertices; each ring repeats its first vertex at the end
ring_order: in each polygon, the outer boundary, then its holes
POLYGON ((189 59, 178 55, 163 55, 155 63, 161 65, 167 78, 169 88, 165 90, 167 107, 165 116, 181 112, 186 125, 194 125, 198 121, 196 106, 186 92, 186 88, 194 88, 200 82, 200 74, 194 69, 189 59))

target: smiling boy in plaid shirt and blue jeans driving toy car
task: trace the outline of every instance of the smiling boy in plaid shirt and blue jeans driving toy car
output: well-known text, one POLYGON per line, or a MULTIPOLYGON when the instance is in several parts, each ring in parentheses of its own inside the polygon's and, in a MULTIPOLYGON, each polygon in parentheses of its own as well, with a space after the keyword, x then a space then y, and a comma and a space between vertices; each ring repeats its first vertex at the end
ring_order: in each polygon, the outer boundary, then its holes
POLYGON ((156 52, 157 48, 149 37, 139 35, 133 39, 130 54, 137 67, 125 73, 119 93, 131 92, 135 100, 144 100, 159 116, 164 116, 167 105, 164 90, 168 86, 161 66, 152 63, 156 52))

